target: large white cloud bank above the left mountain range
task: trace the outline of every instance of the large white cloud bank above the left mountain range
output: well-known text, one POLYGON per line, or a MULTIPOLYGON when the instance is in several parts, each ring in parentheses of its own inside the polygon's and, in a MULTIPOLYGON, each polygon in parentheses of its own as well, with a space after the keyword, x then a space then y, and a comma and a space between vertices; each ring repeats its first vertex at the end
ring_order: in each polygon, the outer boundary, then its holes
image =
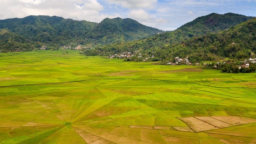
POLYGON ((106 17, 113 17, 101 14, 103 10, 103 5, 97 0, 1 0, 0 19, 56 15, 74 20, 100 22, 106 17))

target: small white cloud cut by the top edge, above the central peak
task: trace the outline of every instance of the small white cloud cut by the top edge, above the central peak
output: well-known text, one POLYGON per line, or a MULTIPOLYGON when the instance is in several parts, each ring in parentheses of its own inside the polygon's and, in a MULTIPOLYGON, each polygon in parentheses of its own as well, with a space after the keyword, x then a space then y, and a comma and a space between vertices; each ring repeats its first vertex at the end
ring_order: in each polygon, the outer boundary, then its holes
POLYGON ((140 9, 146 8, 151 9, 157 3, 157 0, 107 0, 111 4, 121 5, 124 8, 129 9, 140 9))

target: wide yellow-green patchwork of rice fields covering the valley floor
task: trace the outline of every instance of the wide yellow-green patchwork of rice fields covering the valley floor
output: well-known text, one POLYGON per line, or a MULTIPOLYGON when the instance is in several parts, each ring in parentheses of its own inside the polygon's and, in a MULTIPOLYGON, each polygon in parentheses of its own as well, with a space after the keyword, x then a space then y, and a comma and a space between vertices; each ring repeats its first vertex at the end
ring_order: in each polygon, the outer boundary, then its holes
POLYGON ((0 143, 256 144, 256 74, 0 53, 0 143))

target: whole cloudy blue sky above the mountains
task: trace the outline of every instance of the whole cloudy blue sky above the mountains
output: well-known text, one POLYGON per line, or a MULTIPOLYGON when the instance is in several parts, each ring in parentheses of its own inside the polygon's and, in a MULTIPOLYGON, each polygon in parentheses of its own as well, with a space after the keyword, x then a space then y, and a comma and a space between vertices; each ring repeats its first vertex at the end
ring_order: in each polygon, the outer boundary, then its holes
POLYGON ((55 15, 100 22, 120 17, 166 31, 212 12, 256 16, 256 0, 0 0, 1 20, 55 15))

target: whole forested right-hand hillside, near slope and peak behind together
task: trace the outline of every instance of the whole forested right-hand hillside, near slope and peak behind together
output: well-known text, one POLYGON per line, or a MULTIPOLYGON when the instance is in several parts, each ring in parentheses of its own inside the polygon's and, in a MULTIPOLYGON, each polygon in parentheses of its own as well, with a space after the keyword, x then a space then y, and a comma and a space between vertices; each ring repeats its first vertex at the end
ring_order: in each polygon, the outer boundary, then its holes
POLYGON ((256 27, 255 19, 252 18, 234 13, 212 13, 199 17, 175 31, 138 41, 110 44, 96 50, 110 53, 137 50, 140 53, 154 52, 156 57, 170 61, 177 56, 189 56, 191 62, 214 60, 216 55, 249 57, 249 54, 255 51, 256 27), (233 42, 236 44, 231 45, 233 42))

